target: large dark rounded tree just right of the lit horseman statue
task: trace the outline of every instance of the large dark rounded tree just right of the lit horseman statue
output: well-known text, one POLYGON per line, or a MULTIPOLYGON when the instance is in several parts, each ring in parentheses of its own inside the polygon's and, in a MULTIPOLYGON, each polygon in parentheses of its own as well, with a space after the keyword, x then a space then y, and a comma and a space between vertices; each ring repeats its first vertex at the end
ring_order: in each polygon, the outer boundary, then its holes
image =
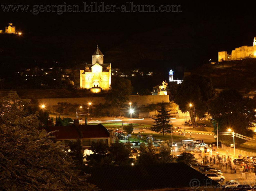
POLYGON ((192 74, 184 78, 178 87, 174 102, 178 104, 182 112, 189 111, 192 121, 194 121, 193 109, 189 104, 196 108, 195 116, 204 117, 207 112, 207 102, 214 96, 214 88, 210 78, 192 74))

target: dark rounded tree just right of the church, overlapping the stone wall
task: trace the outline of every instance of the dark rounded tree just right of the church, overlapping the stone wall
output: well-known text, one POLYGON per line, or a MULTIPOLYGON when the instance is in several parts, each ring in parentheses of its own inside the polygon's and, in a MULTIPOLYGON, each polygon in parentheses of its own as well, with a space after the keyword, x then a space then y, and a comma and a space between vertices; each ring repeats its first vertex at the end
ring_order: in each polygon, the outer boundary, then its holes
POLYGON ((120 77, 113 78, 111 90, 106 95, 105 100, 108 104, 115 105, 119 109, 119 115, 121 115, 120 109, 124 107, 125 102, 129 100, 131 92, 132 86, 130 80, 120 77))

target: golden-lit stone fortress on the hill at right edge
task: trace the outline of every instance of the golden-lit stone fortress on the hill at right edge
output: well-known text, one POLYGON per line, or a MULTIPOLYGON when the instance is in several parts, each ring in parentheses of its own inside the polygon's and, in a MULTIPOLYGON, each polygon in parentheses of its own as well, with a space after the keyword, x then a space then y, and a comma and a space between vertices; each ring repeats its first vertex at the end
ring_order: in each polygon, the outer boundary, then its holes
POLYGON ((253 46, 241 46, 232 50, 231 54, 227 51, 218 52, 218 61, 242 60, 245 58, 256 58, 256 37, 253 40, 253 46))

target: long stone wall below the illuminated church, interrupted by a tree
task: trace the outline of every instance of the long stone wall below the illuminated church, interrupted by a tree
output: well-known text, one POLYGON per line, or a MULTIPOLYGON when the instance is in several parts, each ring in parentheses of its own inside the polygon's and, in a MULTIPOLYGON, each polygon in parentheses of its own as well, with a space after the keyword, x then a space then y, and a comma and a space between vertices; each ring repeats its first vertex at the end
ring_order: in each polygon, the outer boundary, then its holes
MULTIPOLYGON (((39 104, 45 104, 46 106, 58 105, 58 102, 67 102, 70 104, 104 104, 104 97, 84 97, 84 98, 42 98, 37 99, 39 104)), ((130 95, 129 101, 137 103, 137 105, 157 104, 160 102, 169 102, 169 95, 130 95)))

